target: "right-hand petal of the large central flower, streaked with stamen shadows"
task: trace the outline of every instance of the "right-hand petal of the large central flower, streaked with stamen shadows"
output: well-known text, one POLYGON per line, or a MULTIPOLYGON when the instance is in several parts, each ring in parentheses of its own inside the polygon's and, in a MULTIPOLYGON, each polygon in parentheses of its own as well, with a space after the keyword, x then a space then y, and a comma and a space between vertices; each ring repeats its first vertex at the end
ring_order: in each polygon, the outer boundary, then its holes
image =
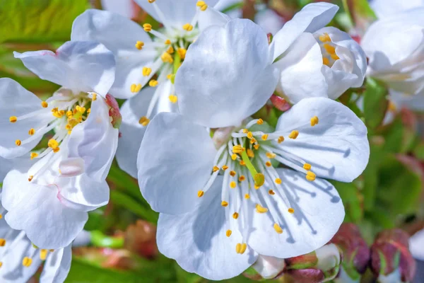
POLYGON ((279 118, 276 130, 285 133, 278 146, 310 163, 311 171, 322 178, 351 182, 367 166, 367 128, 355 113, 334 100, 301 100, 279 118), (319 124, 312 127, 314 116, 319 124), (292 130, 299 131, 297 139, 288 138, 292 130))

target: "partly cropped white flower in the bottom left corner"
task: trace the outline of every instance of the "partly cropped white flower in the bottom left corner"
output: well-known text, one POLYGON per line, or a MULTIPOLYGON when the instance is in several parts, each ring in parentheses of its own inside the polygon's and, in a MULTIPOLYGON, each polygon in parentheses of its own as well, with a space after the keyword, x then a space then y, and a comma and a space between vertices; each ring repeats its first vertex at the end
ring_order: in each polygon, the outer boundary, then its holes
POLYGON ((37 248, 24 231, 8 226, 3 217, 5 212, 0 205, 0 281, 28 282, 45 262, 40 283, 64 282, 71 267, 71 246, 59 250, 37 248))

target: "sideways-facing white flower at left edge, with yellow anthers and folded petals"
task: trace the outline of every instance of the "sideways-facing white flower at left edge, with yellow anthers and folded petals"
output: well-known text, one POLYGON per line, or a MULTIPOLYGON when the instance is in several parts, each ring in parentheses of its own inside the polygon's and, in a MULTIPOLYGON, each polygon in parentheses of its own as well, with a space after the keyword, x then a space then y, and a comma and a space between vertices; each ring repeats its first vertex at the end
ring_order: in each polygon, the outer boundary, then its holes
POLYGON ((29 169, 13 166, 6 175, 6 221, 37 246, 63 248, 83 229, 87 211, 109 200, 105 178, 120 119, 116 101, 107 95, 114 57, 96 42, 66 42, 57 52, 15 56, 62 87, 42 101, 16 81, 0 79, 0 156, 14 163, 33 160, 29 169))

